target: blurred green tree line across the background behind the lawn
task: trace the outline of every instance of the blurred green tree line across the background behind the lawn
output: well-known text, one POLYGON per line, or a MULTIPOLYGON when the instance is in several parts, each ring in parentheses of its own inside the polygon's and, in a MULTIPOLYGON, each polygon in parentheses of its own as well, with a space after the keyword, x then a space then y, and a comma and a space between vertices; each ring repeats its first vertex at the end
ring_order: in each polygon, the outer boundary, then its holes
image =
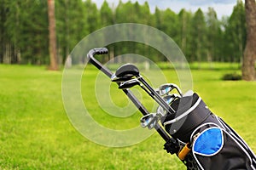
MULTIPOLYGON (((47 1, 2 0, 0 3, 0 63, 49 64, 49 20, 47 1)), ((86 35, 118 23, 140 23, 165 32, 189 60, 241 62, 247 28, 244 3, 237 0, 230 16, 218 19, 214 8, 203 13, 186 9, 175 13, 171 8, 155 8, 147 2, 122 3, 111 7, 106 1, 100 8, 90 0, 55 1, 56 48, 63 64, 75 45, 86 35)), ((145 52, 143 44, 122 42, 109 45, 112 54, 139 53, 154 61, 165 59, 156 50, 145 52), (126 48, 124 48, 126 47, 126 48)))

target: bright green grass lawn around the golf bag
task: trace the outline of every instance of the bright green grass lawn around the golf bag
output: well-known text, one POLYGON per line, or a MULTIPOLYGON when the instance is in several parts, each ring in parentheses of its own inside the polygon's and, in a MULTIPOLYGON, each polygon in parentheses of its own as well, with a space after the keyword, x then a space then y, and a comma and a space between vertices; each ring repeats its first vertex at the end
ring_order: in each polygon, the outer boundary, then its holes
MULTIPOLYGON (((229 71, 193 70, 194 90, 255 152, 256 82, 222 81, 229 71)), ((138 112, 127 118, 105 114, 96 105, 94 90, 84 89, 94 87, 98 71, 90 68, 85 73, 83 98, 96 121, 116 129, 138 126, 138 112)), ((169 82, 177 82, 175 71, 164 73, 169 82)), ((67 118, 61 78, 61 71, 43 66, 0 65, 0 169, 185 169, 176 156, 162 150, 164 141, 157 133, 123 148, 85 139, 67 118)), ((127 99, 116 88, 111 86, 113 102, 126 105, 127 99)))

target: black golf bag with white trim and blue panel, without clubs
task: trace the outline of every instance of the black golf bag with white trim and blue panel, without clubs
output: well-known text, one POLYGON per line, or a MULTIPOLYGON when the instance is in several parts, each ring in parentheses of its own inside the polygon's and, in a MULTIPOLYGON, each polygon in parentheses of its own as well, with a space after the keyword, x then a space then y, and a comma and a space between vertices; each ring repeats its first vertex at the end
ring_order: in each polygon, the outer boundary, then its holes
POLYGON ((256 169, 253 151, 197 94, 190 92, 171 106, 176 116, 167 114, 161 122, 175 140, 165 149, 176 150, 187 169, 256 169), (174 122, 177 117, 182 118, 174 122))

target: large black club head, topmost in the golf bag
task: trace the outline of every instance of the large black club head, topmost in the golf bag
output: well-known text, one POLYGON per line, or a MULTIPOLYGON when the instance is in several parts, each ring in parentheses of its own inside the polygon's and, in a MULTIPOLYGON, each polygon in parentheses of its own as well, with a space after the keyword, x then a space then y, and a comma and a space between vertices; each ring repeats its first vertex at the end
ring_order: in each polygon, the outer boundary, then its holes
POLYGON ((135 65, 125 64, 121 65, 117 71, 112 75, 112 82, 124 82, 130 80, 132 77, 139 77, 140 72, 135 65))

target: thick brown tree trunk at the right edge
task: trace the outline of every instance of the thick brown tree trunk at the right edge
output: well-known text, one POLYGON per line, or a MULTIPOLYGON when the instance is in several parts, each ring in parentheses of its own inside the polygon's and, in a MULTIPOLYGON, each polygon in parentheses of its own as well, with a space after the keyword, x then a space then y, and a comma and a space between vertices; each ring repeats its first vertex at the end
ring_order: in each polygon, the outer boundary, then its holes
POLYGON ((242 79, 246 81, 256 80, 256 2, 245 0, 247 20, 247 45, 243 54, 242 79))

